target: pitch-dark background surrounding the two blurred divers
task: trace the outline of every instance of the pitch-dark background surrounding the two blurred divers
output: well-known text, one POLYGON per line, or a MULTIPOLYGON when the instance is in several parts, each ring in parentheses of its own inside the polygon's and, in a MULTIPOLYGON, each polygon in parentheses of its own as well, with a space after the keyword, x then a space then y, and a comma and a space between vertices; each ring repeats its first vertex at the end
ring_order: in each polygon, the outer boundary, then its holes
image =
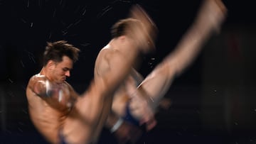
MULTIPOLYGON (((255 7, 223 1, 228 17, 193 64, 166 94, 170 109, 139 143, 256 143, 255 7)), ((191 25, 201 1, 0 0, 0 143, 46 143, 33 127, 26 84, 41 70, 46 42, 68 40, 82 50, 68 82, 84 92, 110 27, 140 4, 159 28, 157 50, 141 63, 144 76, 171 52, 191 25)), ((99 143, 114 143, 103 130, 99 143)))

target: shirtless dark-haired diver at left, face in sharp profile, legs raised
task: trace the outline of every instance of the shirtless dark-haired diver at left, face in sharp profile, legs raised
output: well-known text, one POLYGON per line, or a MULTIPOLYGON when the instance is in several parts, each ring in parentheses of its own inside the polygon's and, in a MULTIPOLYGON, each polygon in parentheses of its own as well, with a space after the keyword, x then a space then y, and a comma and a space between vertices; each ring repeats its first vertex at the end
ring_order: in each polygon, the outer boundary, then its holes
POLYGON ((149 20, 122 19, 112 31, 116 32, 114 38, 100 53, 107 52, 102 57, 102 72, 80 95, 65 81, 80 50, 63 40, 46 46, 43 67, 29 79, 26 97, 31 121, 49 143, 97 143, 114 92, 132 70, 139 53, 153 47, 154 28, 149 20))

